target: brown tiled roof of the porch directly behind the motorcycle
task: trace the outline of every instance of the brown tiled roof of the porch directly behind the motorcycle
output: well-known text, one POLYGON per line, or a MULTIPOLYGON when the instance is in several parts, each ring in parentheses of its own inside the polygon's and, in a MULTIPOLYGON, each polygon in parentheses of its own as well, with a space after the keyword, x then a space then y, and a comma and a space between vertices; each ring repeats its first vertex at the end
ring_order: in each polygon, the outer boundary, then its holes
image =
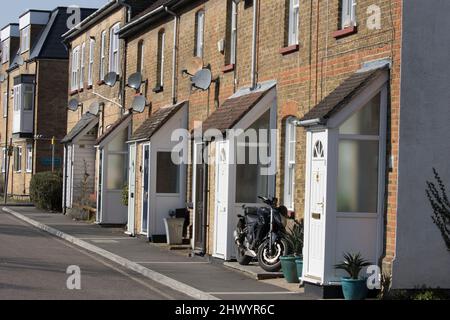
POLYGON ((208 129, 224 133, 233 128, 275 85, 276 82, 271 81, 261 84, 259 89, 253 91, 248 88, 239 90, 203 122, 203 133, 208 129))

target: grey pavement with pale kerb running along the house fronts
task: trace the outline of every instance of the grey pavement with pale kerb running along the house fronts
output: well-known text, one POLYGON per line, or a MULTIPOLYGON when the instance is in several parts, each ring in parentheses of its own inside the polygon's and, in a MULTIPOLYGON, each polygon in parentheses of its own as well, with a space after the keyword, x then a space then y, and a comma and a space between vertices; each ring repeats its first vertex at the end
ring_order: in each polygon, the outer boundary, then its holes
MULTIPOLYGON (((166 288, 167 295, 174 296, 175 299, 178 297, 174 292, 188 298, 202 300, 305 300, 312 298, 306 296, 298 285, 286 285, 284 279, 257 281, 242 272, 225 267, 222 263, 210 263, 202 257, 189 257, 182 252, 150 244, 145 239, 129 237, 124 234, 123 229, 103 228, 30 207, 4 207, 3 212, 4 214, 0 216, 9 213, 14 216, 14 219, 25 221, 28 228, 25 228, 22 223, 22 226, 15 230, 17 226, 4 225, 0 220, 0 257, 3 256, 2 248, 4 247, 1 237, 5 234, 12 233, 9 236, 26 237, 27 234, 38 232, 39 228, 54 235, 55 237, 51 237, 54 241, 57 237, 62 238, 70 246, 80 248, 78 250, 89 251, 89 254, 96 259, 107 260, 116 268, 128 270, 152 281, 155 288, 159 290, 162 287, 166 288)), ((39 233, 42 232, 39 231, 39 233)), ((36 252, 45 250, 45 244, 32 241, 27 246, 29 248, 24 249, 24 254, 21 255, 24 260, 28 259, 28 253, 31 254, 34 247, 38 246, 36 252)), ((62 255, 62 257, 69 257, 69 255, 62 255)), ((0 298, 3 291, 1 279, 0 276, 0 298)), ((130 291, 126 290, 126 292, 128 296, 130 291)))

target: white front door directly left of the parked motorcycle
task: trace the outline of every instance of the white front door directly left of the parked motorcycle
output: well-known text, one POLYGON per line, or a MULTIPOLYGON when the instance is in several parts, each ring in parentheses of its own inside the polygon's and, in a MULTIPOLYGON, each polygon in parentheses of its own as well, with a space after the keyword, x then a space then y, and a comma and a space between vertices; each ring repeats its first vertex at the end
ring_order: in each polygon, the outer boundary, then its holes
POLYGON ((225 259, 228 242, 229 142, 216 143, 216 212, 214 256, 225 259))

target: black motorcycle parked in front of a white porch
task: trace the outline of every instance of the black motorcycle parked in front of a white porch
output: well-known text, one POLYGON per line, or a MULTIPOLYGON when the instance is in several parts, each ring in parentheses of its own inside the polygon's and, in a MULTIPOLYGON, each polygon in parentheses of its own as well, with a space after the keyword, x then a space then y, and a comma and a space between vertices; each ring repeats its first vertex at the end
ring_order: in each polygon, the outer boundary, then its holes
POLYGON ((268 272, 281 269, 280 257, 288 254, 284 240, 287 209, 277 207, 277 199, 258 197, 268 207, 243 207, 244 214, 238 215, 239 222, 234 239, 236 259, 241 265, 248 265, 254 258, 268 272))

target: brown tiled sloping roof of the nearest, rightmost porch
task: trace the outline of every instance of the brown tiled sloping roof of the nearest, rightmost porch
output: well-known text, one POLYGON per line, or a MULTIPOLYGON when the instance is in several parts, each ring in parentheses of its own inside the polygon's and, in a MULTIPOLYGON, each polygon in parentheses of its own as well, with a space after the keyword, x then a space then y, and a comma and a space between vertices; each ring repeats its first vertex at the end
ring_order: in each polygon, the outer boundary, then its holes
MULTIPOLYGON (((372 70, 360 70, 344 80, 333 92, 331 92, 318 105, 306 113, 300 122, 317 120, 319 123, 326 122, 333 114, 341 110, 355 96, 367 88, 380 75, 389 70, 388 66, 372 70)), ((304 124, 306 126, 306 124, 304 124)))

